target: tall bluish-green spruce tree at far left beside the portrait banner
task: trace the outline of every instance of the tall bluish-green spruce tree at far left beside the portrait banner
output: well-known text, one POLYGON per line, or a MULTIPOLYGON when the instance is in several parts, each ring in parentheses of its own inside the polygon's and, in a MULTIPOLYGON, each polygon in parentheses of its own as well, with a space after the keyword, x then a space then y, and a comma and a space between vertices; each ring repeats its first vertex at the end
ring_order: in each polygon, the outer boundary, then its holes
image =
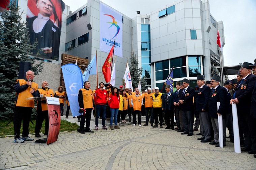
POLYGON ((28 29, 21 23, 21 14, 16 2, 9 4, 9 10, 0 13, 0 117, 11 118, 15 106, 14 85, 19 75, 19 63, 29 61, 35 75, 42 70, 42 62, 36 64, 28 56, 36 43, 30 44, 28 29))

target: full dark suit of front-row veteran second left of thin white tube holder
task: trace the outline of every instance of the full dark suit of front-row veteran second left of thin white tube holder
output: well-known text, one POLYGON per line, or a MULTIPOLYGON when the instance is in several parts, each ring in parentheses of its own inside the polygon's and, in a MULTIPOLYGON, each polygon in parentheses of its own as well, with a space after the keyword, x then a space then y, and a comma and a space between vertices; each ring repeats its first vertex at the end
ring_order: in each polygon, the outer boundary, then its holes
POLYGON ((185 89, 179 91, 178 100, 183 100, 183 104, 180 103, 181 111, 182 111, 182 120, 183 120, 183 128, 185 133, 193 134, 193 122, 194 122, 194 102, 193 97, 195 95, 195 89, 188 87, 185 93, 183 91, 185 89))

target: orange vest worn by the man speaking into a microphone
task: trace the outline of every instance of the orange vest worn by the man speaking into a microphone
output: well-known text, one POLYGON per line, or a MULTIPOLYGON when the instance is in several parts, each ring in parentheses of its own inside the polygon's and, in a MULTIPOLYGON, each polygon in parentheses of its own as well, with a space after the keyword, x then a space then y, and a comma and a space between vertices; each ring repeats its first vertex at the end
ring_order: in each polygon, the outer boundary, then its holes
MULTIPOLYGON (((27 81, 24 80, 24 79, 18 79, 16 81, 16 83, 19 81, 20 83, 20 86, 24 85, 24 84, 27 84, 27 81)), ((18 99, 17 99, 17 102, 16 102, 16 106, 20 106, 20 107, 35 107, 34 105, 34 100, 26 100, 26 98, 29 98, 29 97, 34 97, 30 91, 33 90, 33 88, 35 89, 35 91, 37 91, 37 87, 38 87, 38 84, 36 84, 35 82, 32 82, 31 84, 31 88, 28 87, 26 90, 22 91, 19 93, 18 95, 18 99)), ((17 93, 16 93, 17 95, 17 93)))

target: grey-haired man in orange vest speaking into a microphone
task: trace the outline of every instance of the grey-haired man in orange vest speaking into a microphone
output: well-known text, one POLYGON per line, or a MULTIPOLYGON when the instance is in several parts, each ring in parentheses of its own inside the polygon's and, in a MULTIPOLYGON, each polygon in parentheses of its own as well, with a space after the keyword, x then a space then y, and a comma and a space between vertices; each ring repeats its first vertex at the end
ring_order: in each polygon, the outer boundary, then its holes
POLYGON ((15 84, 16 98, 13 114, 14 142, 23 143, 24 140, 34 140, 28 136, 29 121, 34 108, 34 100, 26 100, 29 97, 39 96, 37 91, 38 84, 33 82, 34 72, 26 72, 26 79, 17 79, 15 84), (22 137, 20 137, 22 124, 22 137))

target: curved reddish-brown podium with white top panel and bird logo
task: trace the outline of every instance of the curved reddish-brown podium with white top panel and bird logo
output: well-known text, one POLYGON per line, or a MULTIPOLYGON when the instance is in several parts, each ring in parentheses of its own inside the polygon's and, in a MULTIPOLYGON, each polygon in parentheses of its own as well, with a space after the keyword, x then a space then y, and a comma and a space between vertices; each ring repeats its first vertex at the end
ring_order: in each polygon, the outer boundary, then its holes
POLYGON ((46 100, 49 119, 49 131, 47 138, 38 139, 36 143, 46 143, 47 145, 56 142, 60 131, 60 102, 56 97, 31 97, 28 100, 46 100))

